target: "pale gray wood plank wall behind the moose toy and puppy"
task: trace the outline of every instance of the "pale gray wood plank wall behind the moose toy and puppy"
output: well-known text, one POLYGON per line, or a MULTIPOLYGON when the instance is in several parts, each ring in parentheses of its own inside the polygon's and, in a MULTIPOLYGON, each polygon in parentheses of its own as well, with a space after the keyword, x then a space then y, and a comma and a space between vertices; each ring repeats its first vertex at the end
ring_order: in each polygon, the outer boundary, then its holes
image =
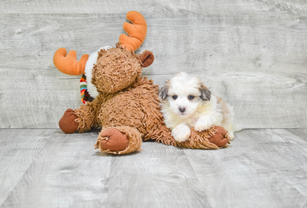
POLYGON ((79 78, 53 65, 56 49, 78 58, 114 45, 126 13, 148 23, 144 44, 163 85, 197 75, 234 107, 244 128, 307 127, 307 3, 304 0, 0 2, 0 128, 58 128, 80 104, 79 78))

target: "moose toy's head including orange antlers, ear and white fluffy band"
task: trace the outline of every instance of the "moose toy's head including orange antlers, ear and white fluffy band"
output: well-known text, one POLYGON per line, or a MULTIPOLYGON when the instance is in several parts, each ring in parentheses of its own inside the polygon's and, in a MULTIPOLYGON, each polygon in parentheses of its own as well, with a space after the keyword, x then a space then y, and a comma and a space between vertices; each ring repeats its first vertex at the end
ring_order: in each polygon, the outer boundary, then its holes
POLYGON ((61 72, 68 75, 86 74, 88 90, 91 96, 100 93, 114 93, 127 88, 141 76, 143 67, 153 63, 153 53, 134 51, 143 44, 147 33, 147 24, 143 15, 136 11, 127 13, 132 24, 123 24, 126 34, 119 36, 119 43, 114 48, 102 48, 91 55, 83 55, 77 61, 76 52, 60 48, 55 52, 54 64, 61 72))

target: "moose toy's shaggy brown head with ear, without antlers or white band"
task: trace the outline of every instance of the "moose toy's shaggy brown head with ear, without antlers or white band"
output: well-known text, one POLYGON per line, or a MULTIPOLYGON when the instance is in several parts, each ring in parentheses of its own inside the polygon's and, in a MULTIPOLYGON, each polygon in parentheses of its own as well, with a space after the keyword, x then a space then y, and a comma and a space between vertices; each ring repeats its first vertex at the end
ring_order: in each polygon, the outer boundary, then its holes
POLYGON ((152 52, 134 54, 117 44, 116 48, 101 49, 92 70, 91 83, 98 92, 113 93, 130 86, 142 74, 142 68, 153 62, 152 52))

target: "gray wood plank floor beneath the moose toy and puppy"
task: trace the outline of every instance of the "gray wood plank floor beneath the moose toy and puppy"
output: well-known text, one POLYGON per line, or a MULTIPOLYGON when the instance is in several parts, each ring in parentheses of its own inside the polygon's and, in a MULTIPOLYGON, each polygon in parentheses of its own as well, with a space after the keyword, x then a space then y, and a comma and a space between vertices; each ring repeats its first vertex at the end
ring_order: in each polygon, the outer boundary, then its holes
POLYGON ((220 150, 144 142, 121 156, 94 150, 98 131, 0 129, 0 206, 307 206, 307 129, 245 129, 220 150))

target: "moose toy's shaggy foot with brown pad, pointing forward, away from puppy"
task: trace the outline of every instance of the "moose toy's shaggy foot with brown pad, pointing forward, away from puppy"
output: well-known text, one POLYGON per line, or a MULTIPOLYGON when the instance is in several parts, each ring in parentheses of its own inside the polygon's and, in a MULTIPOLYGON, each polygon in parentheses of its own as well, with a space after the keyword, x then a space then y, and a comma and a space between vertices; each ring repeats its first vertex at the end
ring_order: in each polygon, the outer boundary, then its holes
POLYGON ((141 133, 133 127, 106 127, 99 133, 95 149, 112 154, 127 154, 140 150, 141 133))

